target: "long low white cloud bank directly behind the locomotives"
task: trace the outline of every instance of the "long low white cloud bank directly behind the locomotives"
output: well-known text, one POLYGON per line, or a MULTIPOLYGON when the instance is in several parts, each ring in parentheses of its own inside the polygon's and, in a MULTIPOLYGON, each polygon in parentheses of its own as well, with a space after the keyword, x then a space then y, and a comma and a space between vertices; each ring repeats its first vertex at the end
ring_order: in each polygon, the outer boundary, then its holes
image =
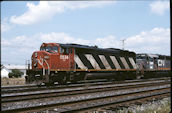
MULTIPOLYGON (((154 28, 150 31, 142 31, 134 36, 125 37, 125 49, 136 53, 154 53, 170 55, 170 29, 154 28)), ((74 37, 67 33, 38 33, 31 37, 17 36, 12 39, 2 38, 2 63, 25 63, 30 59, 33 51, 38 51, 43 42, 77 43, 89 46, 97 45, 100 48, 122 48, 122 41, 113 35, 97 37, 92 40, 74 37), (12 56, 12 57, 11 57, 12 56), (6 60, 9 59, 9 60, 6 60)), ((22 64, 20 63, 20 64, 22 64)))

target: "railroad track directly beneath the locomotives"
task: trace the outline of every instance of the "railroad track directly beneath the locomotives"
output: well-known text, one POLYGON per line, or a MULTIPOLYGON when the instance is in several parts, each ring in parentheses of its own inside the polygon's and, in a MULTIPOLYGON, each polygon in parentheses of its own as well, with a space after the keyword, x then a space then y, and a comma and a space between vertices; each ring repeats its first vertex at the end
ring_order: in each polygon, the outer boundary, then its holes
POLYGON ((165 78, 154 78, 154 79, 140 79, 140 80, 126 80, 126 81, 112 81, 107 82, 105 80, 99 81, 81 81, 77 84, 67 84, 67 85, 56 85, 56 86, 37 86, 35 84, 28 84, 28 85, 18 85, 18 86, 2 86, 1 87, 1 94, 5 93, 16 93, 16 92, 27 92, 27 91, 40 91, 40 90, 49 90, 49 89, 59 89, 59 88, 73 88, 73 87, 82 87, 86 85, 106 85, 106 84, 121 84, 121 83, 131 83, 131 82, 141 82, 141 81, 155 81, 155 80, 168 80, 169 77, 165 78))

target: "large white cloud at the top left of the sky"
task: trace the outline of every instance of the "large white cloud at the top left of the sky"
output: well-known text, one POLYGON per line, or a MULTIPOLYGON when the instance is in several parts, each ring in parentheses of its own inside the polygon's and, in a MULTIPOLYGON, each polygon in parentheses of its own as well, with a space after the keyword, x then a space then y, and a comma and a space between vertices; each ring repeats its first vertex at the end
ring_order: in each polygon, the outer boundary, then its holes
POLYGON ((40 1, 38 5, 27 3, 28 10, 20 16, 12 16, 10 22, 20 25, 30 25, 52 18, 55 14, 66 10, 102 7, 115 3, 114 1, 40 1))

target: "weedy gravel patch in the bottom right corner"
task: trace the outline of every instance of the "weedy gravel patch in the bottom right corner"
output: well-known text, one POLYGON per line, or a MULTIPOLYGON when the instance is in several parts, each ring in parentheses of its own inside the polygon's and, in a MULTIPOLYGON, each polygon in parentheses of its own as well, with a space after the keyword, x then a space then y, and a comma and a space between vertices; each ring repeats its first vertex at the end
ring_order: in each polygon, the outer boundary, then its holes
POLYGON ((147 101, 141 105, 131 105, 129 107, 122 106, 114 108, 113 110, 95 110, 95 113, 170 113, 171 98, 147 101))

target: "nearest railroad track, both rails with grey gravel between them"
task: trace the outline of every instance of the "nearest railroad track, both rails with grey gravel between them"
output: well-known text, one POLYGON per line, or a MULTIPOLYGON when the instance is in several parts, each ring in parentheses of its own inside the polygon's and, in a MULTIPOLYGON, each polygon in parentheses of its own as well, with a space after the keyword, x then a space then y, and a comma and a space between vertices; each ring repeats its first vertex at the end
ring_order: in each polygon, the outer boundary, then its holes
POLYGON ((76 112, 170 93, 170 80, 64 88, 22 95, 2 94, 3 112, 76 112), (71 89, 71 90, 69 90, 71 89))

